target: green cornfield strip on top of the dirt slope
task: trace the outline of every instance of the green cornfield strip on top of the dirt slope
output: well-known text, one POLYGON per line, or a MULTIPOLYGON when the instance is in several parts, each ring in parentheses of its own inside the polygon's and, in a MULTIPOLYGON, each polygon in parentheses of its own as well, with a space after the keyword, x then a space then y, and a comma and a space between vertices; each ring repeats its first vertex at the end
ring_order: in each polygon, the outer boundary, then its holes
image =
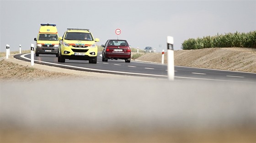
POLYGON ((204 36, 203 38, 190 38, 183 41, 181 49, 203 49, 203 48, 223 48, 223 47, 246 47, 256 48, 256 31, 248 33, 225 33, 217 36, 204 36))

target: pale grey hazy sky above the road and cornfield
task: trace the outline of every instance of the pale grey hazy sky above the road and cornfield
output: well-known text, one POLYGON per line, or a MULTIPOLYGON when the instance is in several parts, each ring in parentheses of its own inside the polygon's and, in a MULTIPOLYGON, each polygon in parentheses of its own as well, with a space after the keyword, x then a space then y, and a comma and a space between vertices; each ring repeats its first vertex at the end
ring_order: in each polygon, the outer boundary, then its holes
POLYGON ((56 24, 59 36, 67 28, 90 29, 97 45, 117 38, 139 49, 166 51, 188 38, 256 30, 256 0, 0 0, 0 51, 30 50, 41 23, 56 24))

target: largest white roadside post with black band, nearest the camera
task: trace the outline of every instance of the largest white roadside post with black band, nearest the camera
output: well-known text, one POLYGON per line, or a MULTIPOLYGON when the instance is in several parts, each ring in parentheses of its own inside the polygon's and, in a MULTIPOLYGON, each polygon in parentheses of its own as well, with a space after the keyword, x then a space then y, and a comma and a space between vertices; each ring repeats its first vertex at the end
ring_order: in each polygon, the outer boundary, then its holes
POLYGON ((173 48, 173 37, 167 36, 167 58, 168 58, 168 79, 169 81, 174 80, 174 48, 173 48))

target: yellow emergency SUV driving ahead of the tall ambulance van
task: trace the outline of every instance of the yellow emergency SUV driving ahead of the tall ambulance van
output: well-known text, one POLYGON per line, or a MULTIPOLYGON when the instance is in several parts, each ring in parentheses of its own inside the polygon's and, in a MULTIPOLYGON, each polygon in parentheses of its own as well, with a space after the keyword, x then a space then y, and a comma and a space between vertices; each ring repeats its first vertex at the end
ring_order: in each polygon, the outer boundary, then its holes
POLYGON ((86 60, 89 63, 97 63, 98 48, 89 29, 68 28, 63 37, 59 38, 58 62, 69 60, 86 60))

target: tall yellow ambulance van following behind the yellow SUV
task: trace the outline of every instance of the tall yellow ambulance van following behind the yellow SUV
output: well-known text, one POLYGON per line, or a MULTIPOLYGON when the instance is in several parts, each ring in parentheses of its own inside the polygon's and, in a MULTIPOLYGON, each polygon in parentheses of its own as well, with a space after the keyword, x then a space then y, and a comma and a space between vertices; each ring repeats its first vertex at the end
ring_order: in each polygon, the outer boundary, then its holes
POLYGON ((41 24, 36 41, 36 56, 39 54, 55 54, 58 56, 59 36, 56 24, 41 24))

